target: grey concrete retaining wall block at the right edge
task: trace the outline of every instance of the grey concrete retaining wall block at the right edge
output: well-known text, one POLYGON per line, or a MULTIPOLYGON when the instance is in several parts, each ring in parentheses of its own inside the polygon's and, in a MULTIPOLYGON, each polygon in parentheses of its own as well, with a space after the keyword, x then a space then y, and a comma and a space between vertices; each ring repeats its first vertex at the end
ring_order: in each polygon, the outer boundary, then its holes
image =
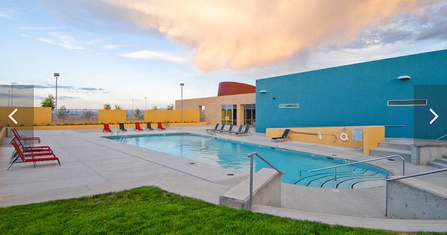
POLYGON ((447 220, 447 189, 418 179, 387 181, 386 216, 409 220, 447 220))

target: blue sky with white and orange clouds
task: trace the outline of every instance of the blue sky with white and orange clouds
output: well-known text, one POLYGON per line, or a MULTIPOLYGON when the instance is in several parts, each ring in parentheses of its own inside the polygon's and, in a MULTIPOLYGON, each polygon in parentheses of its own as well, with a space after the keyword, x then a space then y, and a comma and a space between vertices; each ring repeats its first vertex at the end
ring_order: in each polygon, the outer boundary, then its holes
POLYGON ((219 82, 446 50, 447 1, 0 0, 0 28, 0 106, 21 85, 40 106, 59 73, 58 108, 152 109, 219 82))

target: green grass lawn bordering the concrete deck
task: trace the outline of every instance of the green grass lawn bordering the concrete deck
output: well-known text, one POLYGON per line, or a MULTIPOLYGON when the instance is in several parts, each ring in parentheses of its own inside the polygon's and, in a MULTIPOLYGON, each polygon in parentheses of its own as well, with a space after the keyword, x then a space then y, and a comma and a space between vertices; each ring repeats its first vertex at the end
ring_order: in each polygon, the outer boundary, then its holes
POLYGON ((155 187, 140 187, 0 208, 0 234, 406 233, 279 218, 181 197, 155 187))

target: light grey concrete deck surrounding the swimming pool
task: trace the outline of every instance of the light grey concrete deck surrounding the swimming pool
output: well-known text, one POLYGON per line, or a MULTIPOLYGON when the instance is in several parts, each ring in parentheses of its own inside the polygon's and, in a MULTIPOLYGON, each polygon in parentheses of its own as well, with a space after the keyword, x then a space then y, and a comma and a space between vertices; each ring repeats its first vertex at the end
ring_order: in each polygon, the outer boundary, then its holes
MULTIPOLYGON (((167 128, 166 131, 134 132, 125 135, 147 135, 174 132, 191 132, 207 135, 205 129, 212 126, 167 128)), ((129 128, 130 129, 130 128, 129 128)), ((24 135, 27 133, 23 132, 24 135)), ((114 133, 116 135, 116 132, 114 133)), ((123 135, 124 133, 120 133, 123 135)), ((40 145, 49 145, 61 160, 57 162, 17 162, 8 171, 13 147, 10 137, 3 140, 0 148, 0 206, 12 206, 68 199, 127 190, 142 185, 154 185, 163 190, 187 197, 219 204, 219 196, 237 183, 248 178, 247 174, 230 169, 194 162, 138 146, 119 144, 98 129, 90 130, 35 130, 41 137, 40 145), (232 175, 229 175, 232 174, 232 175)), ((237 137, 217 137, 242 142, 291 149, 323 156, 349 160, 366 160, 360 151, 319 144, 300 142, 271 142, 263 133, 237 137)), ((268 158, 268 156, 264 156, 268 158)), ((247 158, 249 160, 249 158, 247 158)), ((380 160, 374 165, 402 175, 402 162, 380 160)), ((406 175, 427 172, 430 166, 405 165, 406 175)), ((447 173, 420 176, 418 179, 447 188, 447 173)), ((388 219, 386 212, 386 188, 334 190, 282 184, 281 209, 254 206, 254 211, 273 215, 325 222, 330 225, 367 227, 403 232, 447 232, 446 220, 395 220, 388 219)))

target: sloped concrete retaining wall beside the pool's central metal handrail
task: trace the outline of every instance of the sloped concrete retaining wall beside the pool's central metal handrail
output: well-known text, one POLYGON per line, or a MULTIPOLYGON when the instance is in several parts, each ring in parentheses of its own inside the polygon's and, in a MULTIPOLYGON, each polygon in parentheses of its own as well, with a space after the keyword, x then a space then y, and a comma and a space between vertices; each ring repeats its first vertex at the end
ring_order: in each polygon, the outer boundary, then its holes
MULTIPOLYGON (((242 181, 219 197, 223 206, 249 209, 250 179, 242 181)), ((253 204, 281 207, 281 174, 263 168, 253 176, 253 204)))

